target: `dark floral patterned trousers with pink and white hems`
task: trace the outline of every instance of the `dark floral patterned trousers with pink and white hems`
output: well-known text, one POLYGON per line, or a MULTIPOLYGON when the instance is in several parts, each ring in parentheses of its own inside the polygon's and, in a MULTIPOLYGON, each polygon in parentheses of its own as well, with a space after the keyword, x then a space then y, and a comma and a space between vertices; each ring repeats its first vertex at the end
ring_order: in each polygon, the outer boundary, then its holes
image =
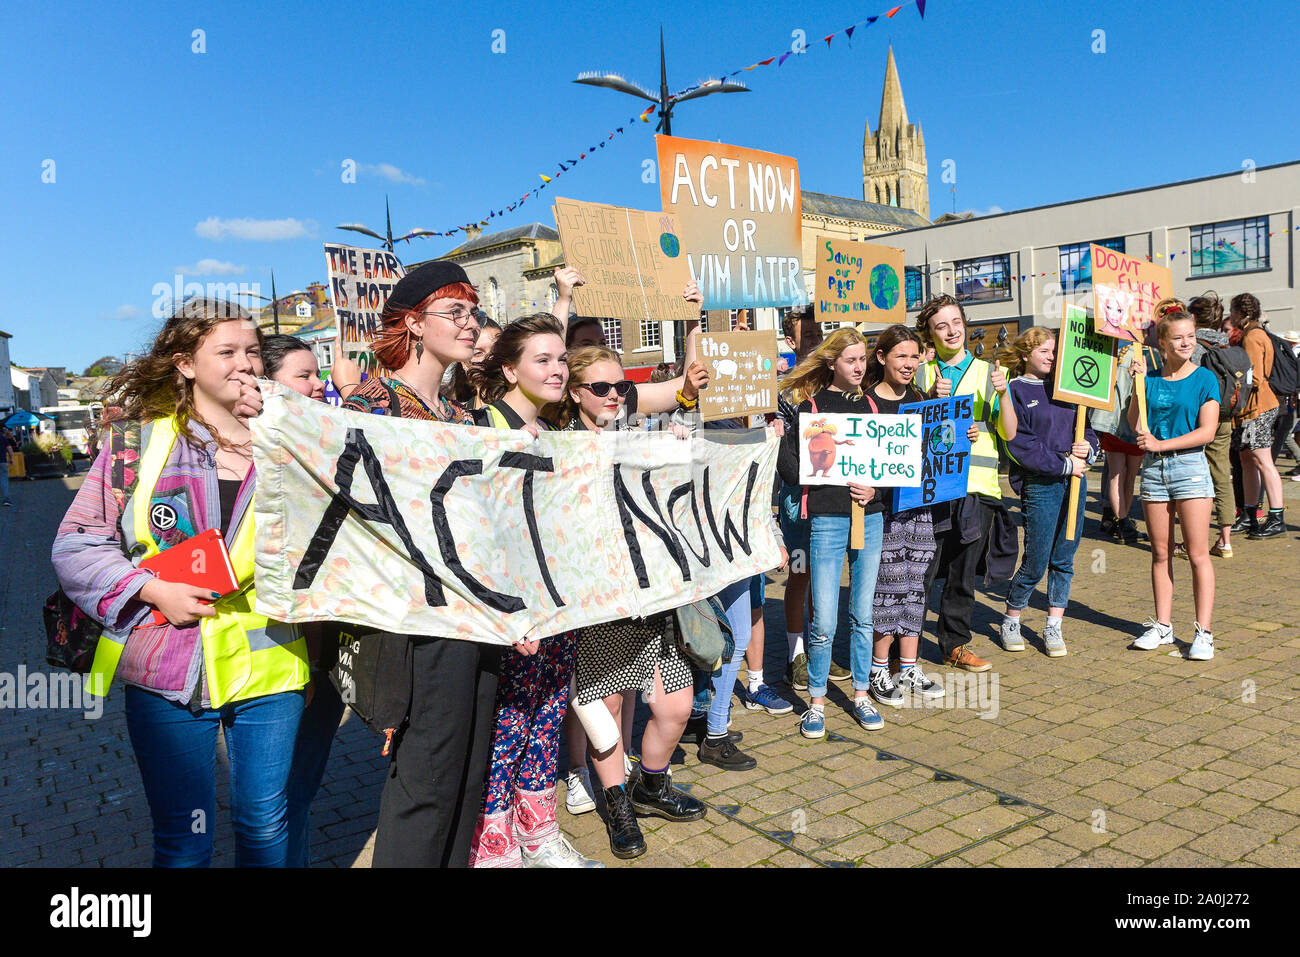
POLYGON ((532 850, 559 836, 555 785, 576 651, 576 635, 564 632, 543 638, 537 654, 507 650, 502 658, 471 867, 520 867, 521 844, 532 850))

